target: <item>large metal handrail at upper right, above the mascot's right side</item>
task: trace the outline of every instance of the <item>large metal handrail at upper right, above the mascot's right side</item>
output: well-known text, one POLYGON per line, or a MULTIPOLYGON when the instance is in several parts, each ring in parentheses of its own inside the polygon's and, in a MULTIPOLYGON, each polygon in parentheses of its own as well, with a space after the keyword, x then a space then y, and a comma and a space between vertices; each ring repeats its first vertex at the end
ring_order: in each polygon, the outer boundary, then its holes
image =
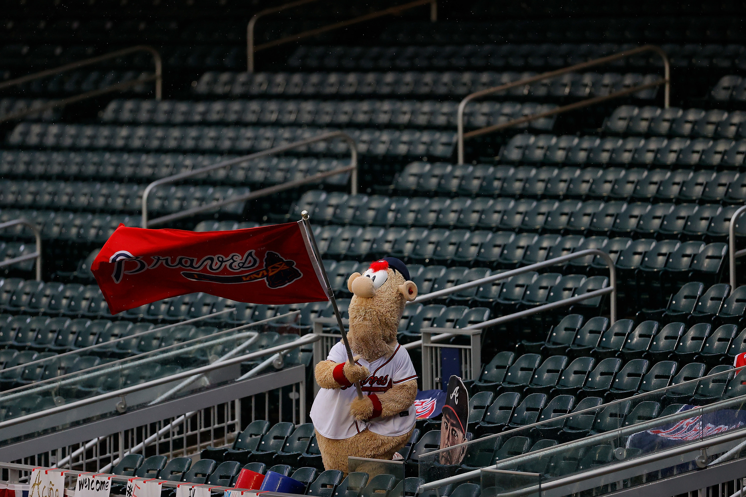
POLYGON ((524 122, 533 121, 534 119, 548 117, 549 115, 560 114, 560 113, 567 112, 569 110, 579 109, 580 107, 587 107, 589 105, 598 104, 602 101, 611 100, 612 98, 618 98, 624 95, 629 95, 630 93, 639 92, 640 90, 653 88, 653 86, 660 86, 662 84, 665 84, 663 103, 664 103, 665 108, 668 109, 668 102, 670 100, 670 94, 671 94, 671 67, 668 63, 668 57, 666 56, 665 51, 663 51, 662 48, 656 45, 644 45, 639 48, 633 48, 632 50, 625 50, 625 51, 619 52, 618 54, 608 55, 606 57, 600 57, 598 59, 589 60, 588 62, 583 62, 580 64, 575 64, 574 66, 565 67, 564 69, 557 69, 557 71, 550 71, 550 72, 545 72, 545 73, 542 73, 540 75, 536 75, 533 77, 526 77, 522 80, 513 81, 513 83, 506 83, 504 85, 494 86, 492 88, 480 90, 479 92, 474 92, 471 95, 466 95, 466 97, 459 104, 457 114, 456 114, 458 163, 459 164, 464 163, 464 139, 465 138, 471 138, 472 136, 479 136, 479 135, 483 135, 486 133, 492 133, 493 131, 502 130, 507 127, 515 126, 517 124, 523 124, 524 122), (507 121, 502 124, 495 124, 493 126, 483 127, 479 130, 469 131, 466 134, 464 133, 464 109, 466 108, 466 104, 468 104, 470 101, 474 100, 475 98, 484 97, 486 95, 492 95, 493 93, 511 89, 514 86, 521 86, 524 84, 533 83, 534 81, 540 81, 540 80, 545 80, 545 79, 555 77, 555 76, 565 75, 568 72, 576 72, 582 69, 587 69, 589 67, 600 66, 601 64, 609 63, 609 62, 612 62, 618 59, 623 59, 624 57, 630 57, 632 55, 640 54, 646 51, 654 51, 656 52, 656 54, 659 54, 660 57, 662 58, 663 67, 664 67, 664 77, 662 79, 653 81, 653 83, 645 83, 640 86, 633 86, 632 88, 627 88, 619 92, 609 93, 609 95, 589 98, 588 100, 575 102, 574 104, 557 107, 554 110, 548 110, 547 112, 544 112, 544 113, 527 115, 525 117, 513 119, 511 121, 507 121))

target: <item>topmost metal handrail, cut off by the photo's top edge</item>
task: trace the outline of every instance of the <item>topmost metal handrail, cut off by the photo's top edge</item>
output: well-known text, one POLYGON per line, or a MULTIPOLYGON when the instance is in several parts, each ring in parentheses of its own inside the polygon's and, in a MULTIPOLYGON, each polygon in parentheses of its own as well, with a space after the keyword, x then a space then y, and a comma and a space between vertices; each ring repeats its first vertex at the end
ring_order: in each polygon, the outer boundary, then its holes
POLYGON ((287 10, 292 7, 298 7, 300 5, 309 4, 313 1, 317 1, 317 0, 292 1, 289 4, 280 5, 280 7, 272 7, 269 9, 260 10, 260 12, 257 12, 256 14, 254 14, 254 16, 251 17, 251 19, 249 19, 248 25, 246 26, 246 71, 247 72, 254 72, 254 54, 257 53, 257 51, 264 50, 266 48, 272 48, 278 45, 283 45, 284 43, 294 42, 294 41, 297 41, 298 39, 314 37, 317 34, 326 33, 327 31, 333 31, 339 28, 345 28, 345 26, 354 25, 354 24, 357 24, 358 22, 369 21, 370 19, 376 19, 377 17, 386 16, 388 14, 397 14, 403 10, 409 10, 414 7, 419 7, 420 5, 430 4, 430 22, 436 22, 438 20, 438 1, 437 0, 415 0, 415 1, 410 1, 407 4, 397 5, 395 7, 389 7, 384 10, 378 10, 377 12, 365 14, 364 16, 357 16, 357 17, 354 17, 353 19, 348 19, 346 21, 335 22, 330 25, 322 26, 321 28, 310 29, 308 31, 302 31, 301 33, 298 33, 298 34, 291 34, 289 37, 275 39, 272 42, 262 43, 261 45, 257 45, 256 47, 254 47, 254 26, 257 24, 257 20, 260 17, 266 16, 267 14, 271 14, 271 13, 282 12, 283 10, 287 10))

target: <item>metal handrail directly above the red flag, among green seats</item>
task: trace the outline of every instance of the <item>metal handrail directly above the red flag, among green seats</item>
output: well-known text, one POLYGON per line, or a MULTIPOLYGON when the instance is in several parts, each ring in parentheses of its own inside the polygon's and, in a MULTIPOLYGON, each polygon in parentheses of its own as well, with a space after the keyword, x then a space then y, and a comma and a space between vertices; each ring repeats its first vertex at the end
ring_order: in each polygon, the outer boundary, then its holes
POLYGON ((148 228, 151 226, 155 226, 157 224, 164 224, 164 223, 168 223, 169 221, 175 221, 176 219, 188 218, 191 215, 195 215, 200 212, 211 211, 221 206, 225 206, 228 203, 241 202, 244 200, 252 200, 254 198, 259 198, 259 197, 266 197, 267 195, 277 193, 278 191, 292 189, 292 188, 295 188, 296 186, 306 185, 308 183, 316 183, 317 181, 322 180, 325 177, 334 176, 335 174, 342 174, 347 171, 351 171, 352 173, 350 176, 350 193, 357 194, 357 145, 355 144, 354 139, 352 139, 351 136, 349 136, 347 133, 344 133, 342 131, 333 131, 331 133, 324 133, 319 136, 313 136, 311 138, 303 139, 298 142, 290 143, 289 145, 269 148, 266 151, 251 153, 249 155, 237 157, 236 159, 224 160, 222 162, 218 162, 217 164, 206 165, 204 166, 204 168, 198 168, 193 171, 186 171, 184 173, 174 174, 173 176, 161 178, 160 180, 155 180, 153 183, 150 183, 148 186, 146 186, 145 191, 142 192, 142 222, 140 226, 143 228, 148 228), (329 140, 329 139, 334 139, 334 138, 341 138, 345 140, 345 142, 347 142, 347 144, 349 145, 350 165, 345 166, 343 168, 334 169, 333 171, 325 171, 323 173, 314 174, 313 176, 303 178, 302 180, 288 181, 287 183, 281 183, 280 185, 269 186, 268 188, 264 188, 261 190, 251 191, 251 193, 248 193, 248 194, 236 195, 236 197, 227 198, 219 202, 209 203, 207 205, 195 207, 193 209, 186 209, 185 211, 161 216, 160 218, 155 218, 152 221, 148 221, 148 194, 150 194, 151 190, 154 189, 156 186, 160 186, 166 183, 174 183, 176 181, 184 180, 188 177, 197 176, 198 174, 203 174, 209 171, 214 171, 219 168, 227 168, 231 165, 240 164, 242 162, 247 162, 249 160, 259 159, 260 157, 274 155, 275 153, 289 151, 293 148, 302 147, 310 143, 323 142, 324 140, 329 140))

